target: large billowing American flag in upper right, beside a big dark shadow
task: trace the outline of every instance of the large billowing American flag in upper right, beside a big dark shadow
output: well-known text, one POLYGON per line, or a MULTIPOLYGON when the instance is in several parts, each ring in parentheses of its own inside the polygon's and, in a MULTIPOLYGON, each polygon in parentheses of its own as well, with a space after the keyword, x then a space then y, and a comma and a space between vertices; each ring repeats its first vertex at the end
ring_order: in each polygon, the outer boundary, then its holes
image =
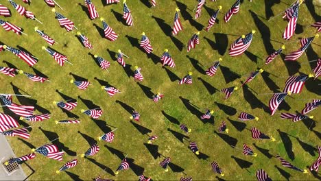
POLYGON ((235 42, 233 42, 233 44, 230 45, 228 54, 232 57, 241 55, 242 53, 244 53, 244 51, 246 51, 246 49, 248 49, 248 47, 250 47, 252 38, 252 32, 250 32, 246 36, 241 36, 237 38, 237 40, 235 40, 235 42))

